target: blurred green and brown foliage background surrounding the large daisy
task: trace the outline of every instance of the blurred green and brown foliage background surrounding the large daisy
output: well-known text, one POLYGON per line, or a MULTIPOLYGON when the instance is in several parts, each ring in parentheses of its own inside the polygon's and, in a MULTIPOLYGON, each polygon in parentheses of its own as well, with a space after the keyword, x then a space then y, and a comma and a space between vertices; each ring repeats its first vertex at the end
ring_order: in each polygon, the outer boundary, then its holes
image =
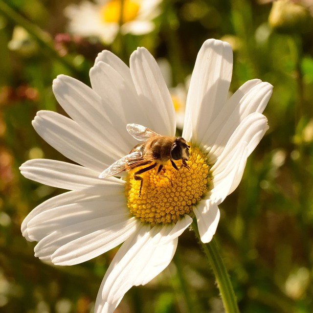
MULTIPOLYGON (((221 205, 215 236, 239 308, 312 313, 313 1, 164 0, 154 30, 119 33, 110 45, 67 33, 70 3, 0 0, 0 312, 92 312, 116 252, 57 267, 35 258, 35 243, 22 237, 28 212, 61 192, 19 173, 29 158, 65 159, 31 126, 38 110, 62 112, 52 80, 62 73, 89 84, 89 68, 102 49, 128 64, 131 52, 145 46, 165 64, 176 99, 175 88, 186 92, 202 43, 216 38, 233 47, 230 91, 253 78, 274 86, 265 111, 270 128, 240 186, 221 205)), ((218 293, 193 232, 186 231, 171 265, 148 285, 132 288, 116 312, 219 313, 218 293)))

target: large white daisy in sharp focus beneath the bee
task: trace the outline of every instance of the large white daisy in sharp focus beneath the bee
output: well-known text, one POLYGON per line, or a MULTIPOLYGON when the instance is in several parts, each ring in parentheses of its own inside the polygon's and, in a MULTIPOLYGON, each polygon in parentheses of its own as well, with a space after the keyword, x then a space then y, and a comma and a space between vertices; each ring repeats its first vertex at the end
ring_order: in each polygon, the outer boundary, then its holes
MULTIPOLYGON (((129 123, 175 136, 176 118, 168 88, 145 48, 127 67, 110 51, 90 69, 91 88, 58 76, 54 94, 69 117, 40 111, 33 126, 40 136, 76 164, 32 159, 22 175, 70 190, 37 206, 22 223, 22 234, 38 241, 35 256, 74 265, 122 244, 110 264, 95 303, 96 313, 113 312, 132 286, 144 285, 168 266, 179 235, 197 220, 203 243, 214 235, 218 205, 239 184, 246 159, 268 129, 262 114, 272 86, 258 79, 227 100, 232 74, 229 44, 207 40, 192 73, 182 137, 190 145, 188 167, 170 161, 163 176, 151 169, 134 179, 99 179, 138 144, 129 123)), ((137 170, 137 169, 135 169, 137 170)))

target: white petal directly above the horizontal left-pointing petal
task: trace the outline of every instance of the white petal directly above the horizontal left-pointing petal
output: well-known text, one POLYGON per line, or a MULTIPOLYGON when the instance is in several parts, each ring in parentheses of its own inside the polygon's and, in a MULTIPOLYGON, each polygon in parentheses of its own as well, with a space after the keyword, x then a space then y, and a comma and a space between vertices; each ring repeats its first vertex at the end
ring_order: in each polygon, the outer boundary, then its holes
POLYGON ((39 111, 32 124, 36 132, 54 149, 94 171, 103 171, 118 157, 114 156, 114 151, 110 151, 109 147, 102 146, 64 115, 39 111))

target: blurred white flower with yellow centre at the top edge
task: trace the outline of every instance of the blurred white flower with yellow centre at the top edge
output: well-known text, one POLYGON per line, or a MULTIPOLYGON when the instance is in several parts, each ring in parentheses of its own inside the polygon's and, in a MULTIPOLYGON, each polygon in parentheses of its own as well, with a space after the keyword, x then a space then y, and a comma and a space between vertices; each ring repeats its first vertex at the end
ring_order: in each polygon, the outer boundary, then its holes
POLYGON ((83 0, 70 4, 64 14, 69 19, 68 31, 73 35, 99 38, 105 44, 115 39, 121 22, 121 33, 143 35, 155 28, 152 20, 159 15, 161 0, 83 0), (121 15, 123 2, 123 17, 121 15))

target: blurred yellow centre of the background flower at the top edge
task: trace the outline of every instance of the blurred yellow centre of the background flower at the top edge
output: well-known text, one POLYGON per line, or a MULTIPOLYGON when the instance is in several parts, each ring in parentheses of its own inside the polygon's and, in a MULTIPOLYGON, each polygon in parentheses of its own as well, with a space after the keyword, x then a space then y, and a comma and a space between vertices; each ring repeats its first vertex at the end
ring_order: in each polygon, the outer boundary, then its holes
POLYGON ((103 22, 115 22, 122 24, 133 21, 139 11, 139 4, 132 0, 111 0, 107 2, 100 11, 101 19, 103 22), (123 10, 121 8, 123 2, 123 10), (123 11, 123 12, 122 12, 123 11), (122 13, 122 18, 121 17, 122 13))

